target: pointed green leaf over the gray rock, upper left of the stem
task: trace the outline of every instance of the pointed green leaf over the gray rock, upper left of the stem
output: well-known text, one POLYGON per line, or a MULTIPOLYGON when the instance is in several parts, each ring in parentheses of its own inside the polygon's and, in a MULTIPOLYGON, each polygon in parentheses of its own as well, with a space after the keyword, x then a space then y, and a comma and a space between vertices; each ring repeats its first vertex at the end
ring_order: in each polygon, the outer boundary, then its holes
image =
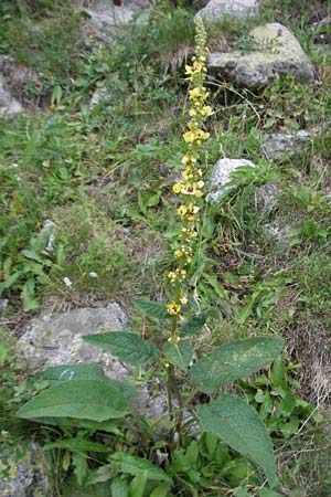
POLYGON ((83 340, 108 350, 120 361, 132 366, 146 364, 161 356, 160 350, 150 340, 142 340, 139 335, 130 331, 85 335, 83 340))

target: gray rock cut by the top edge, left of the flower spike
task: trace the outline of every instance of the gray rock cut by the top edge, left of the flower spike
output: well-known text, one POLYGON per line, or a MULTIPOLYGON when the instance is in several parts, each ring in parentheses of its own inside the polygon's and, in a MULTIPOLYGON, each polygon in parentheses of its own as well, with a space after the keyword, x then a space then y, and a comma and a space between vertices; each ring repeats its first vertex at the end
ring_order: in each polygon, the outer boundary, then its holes
POLYGON ((128 24, 137 11, 148 9, 147 0, 124 1, 115 6, 110 0, 96 0, 84 9, 89 15, 88 27, 94 34, 105 42, 111 42, 116 30, 128 24))

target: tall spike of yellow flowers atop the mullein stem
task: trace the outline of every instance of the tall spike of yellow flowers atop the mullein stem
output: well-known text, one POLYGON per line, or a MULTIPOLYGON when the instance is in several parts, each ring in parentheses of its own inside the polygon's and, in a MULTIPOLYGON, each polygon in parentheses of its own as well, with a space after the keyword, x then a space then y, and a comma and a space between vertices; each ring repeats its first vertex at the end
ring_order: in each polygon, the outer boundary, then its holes
POLYGON ((188 266, 191 264, 194 254, 204 197, 203 169, 200 163, 201 145, 210 136, 203 128, 203 121, 213 113, 212 108, 206 105, 209 92, 204 86, 204 80, 207 49, 206 33, 201 18, 196 20, 195 44, 196 54, 192 59, 192 65, 185 66, 185 74, 191 85, 189 91, 190 120, 188 129, 183 134, 186 151, 181 160, 183 165, 182 178, 172 187, 180 199, 177 213, 181 224, 173 247, 177 266, 168 273, 168 278, 174 286, 175 298, 167 306, 167 310, 175 318, 181 317, 182 306, 188 304, 184 281, 188 276, 188 266))

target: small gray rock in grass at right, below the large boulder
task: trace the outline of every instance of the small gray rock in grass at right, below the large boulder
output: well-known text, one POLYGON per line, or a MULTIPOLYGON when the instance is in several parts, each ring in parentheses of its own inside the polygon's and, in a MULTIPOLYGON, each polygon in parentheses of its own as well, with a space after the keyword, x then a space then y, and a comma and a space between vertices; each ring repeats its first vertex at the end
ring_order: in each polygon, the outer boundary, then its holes
POLYGON ((261 152, 267 159, 291 157, 309 146, 312 140, 310 131, 300 129, 297 133, 275 133, 261 137, 261 152))

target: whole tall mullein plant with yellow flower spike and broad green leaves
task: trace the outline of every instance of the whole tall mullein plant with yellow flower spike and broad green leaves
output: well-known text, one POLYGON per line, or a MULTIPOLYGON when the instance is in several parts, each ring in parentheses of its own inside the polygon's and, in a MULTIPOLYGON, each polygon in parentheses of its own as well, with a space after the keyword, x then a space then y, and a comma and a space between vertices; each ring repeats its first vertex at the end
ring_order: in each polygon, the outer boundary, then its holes
MULTIPOLYGON (((132 330, 92 334, 83 339, 109 351, 121 362, 137 368, 139 373, 143 372, 145 368, 150 370, 151 366, 161 381, 166 373, 169 410, 168 457, 162 464, 166 472, 169 464, 167 461, 171 462, 173 448, 181 445, 184 436, 196 436, 196 433, 192 433, 192 429, 186 430, 190 423, 183 423, 183 413, 189 413, 189 417, 196 421, 195 426, 221 437, 234 451, 250 459, 258 468, 264 469, 270 486, 275 486, 276 463, 273 444, 260 417, 245 400, 224 393, 224 389, 234 381, 269 366, 279 357, 282 341, 270 336, 231 341, 215 348, 209 356, 193 360, 192 337, 202 330, 206 317, 203 313, 192 315, 194 306, 189 305, 192 296, 188 293, 186 282, 193 257, 199 260, 196 256, 199 231, 201 212, 205 203, 201 147, 209 138, 209 134, 203 128, 203 121, 212 114, 211 107, 206 105, 209 91, 204 86, 207 57, 206 34, 200 18, 196 20, 195 40, 196 55, 192 64, 186 66, 191 85, 189 89, 190 120, 183 135, 186 151, 182 159, 181 179, 173 184, 173 191, 179 198, 177 208, 179 229, 171 244, 173 267, 167 275, 171 287, 171 298, 166 304, 148 298, 134 302, 138 309, 153 322, 158 322, 158 329, 164 340, 160 345, 160 340, 154 342, 132 330), (185 374, 181 374, 179 379, 177 373, 180 370, 185 374), (200 395, 200 392, 204 395, 200 395), (193 398, 194 403, 191 402, 193 398), (201 399, 204 403, 199 405, 201 399), (209 399, 207 403, 205 399, 209 399)), ((195 353, 199 355, 199 351, 195 353)), ((139 374, 139 378, 143 377, 139 374)), ((146 374, 146 378, 148 379, 149 374, 146 374)), ((42 379, 46 388, 18 411, 20 417, 51 424, 54 424, 57 419, 62 426, 67 423, 79 426, 79 422, 84 425, 88 420, 96 429, 100 423, 100 431, 105 421, 111 420, 114 424, 116 420, 119 420, 119 426, 122 426, 122 420, 130 425, 137 420, 137 409, 132 404, 137 392, 132 384, 107 378, 97 364, 56 366, 38 373, 36 379, 42 379)), ((146 436, 150 437, 151 444, 158 440, 158 436, 164 440, 164 433, 162 432, 162 435, 158 432, 152 433, 152 424, 147 423, 146 420, 142 422, 140 419, 135 432, 141 426, 146 430, 143 440, 146 436)), ((142 448, 139 450, 141 454, 142 448)), ((146 451, 146 456, 148 454, 149 451, 146 451)), ((108 461, 110 464, 114 463, 109 478, 118 476, 118 462, 125 462, 128 457, 130 466, 132 465, 131 455, 125 452, 109 455, 108 461)), ((135 461, 138 459, 136 457, 135 461)), ((150 474, 151 463, 149 464, 150 466, 146 466, 146 462, 142 464, 138 461, 137 468, 130 473, 136 475, 130 485, 138 485, 136 478, 141 478, 146 483, 150 474)), ((177 488, 172 477, 164 472, 160 473, 161 469, 158 470, 158 478, 163 479, 169 490, 177 488)), ((156 470, 151 470, 151 474, 156 475, 156 470)), ((141 487, 141 482, 139 485, 141 487)), ((143 488, 142 490, 140 488, 139 495, 150 495, 148 494, 150 488, 145 494, 143 488)), ((156 488, 157 494, 158 488, 156 488)), ((134 490, 129 495, 135 495, 134 490)))

